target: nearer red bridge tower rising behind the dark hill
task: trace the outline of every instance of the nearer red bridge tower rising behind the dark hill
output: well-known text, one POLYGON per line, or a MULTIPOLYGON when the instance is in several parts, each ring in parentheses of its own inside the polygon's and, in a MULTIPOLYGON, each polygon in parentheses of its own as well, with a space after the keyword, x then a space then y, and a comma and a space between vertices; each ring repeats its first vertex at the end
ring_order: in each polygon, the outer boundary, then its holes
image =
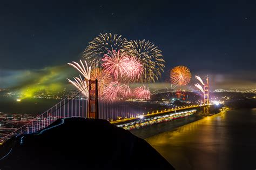
POLYGON ((98 80, 89 80, 89 105, 87 118, 99 118, 98 112, 98 80))

